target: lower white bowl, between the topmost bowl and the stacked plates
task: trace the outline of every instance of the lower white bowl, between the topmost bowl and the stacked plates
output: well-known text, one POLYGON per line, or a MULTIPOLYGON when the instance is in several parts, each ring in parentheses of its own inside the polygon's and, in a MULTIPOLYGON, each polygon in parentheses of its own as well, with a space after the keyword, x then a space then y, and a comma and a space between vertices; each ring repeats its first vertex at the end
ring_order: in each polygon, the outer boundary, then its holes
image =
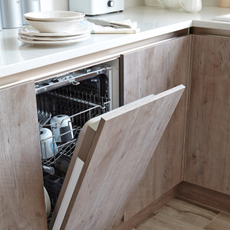
POLYGON ((32 27, 37 29, 40 33, 62 33, 74 30, 81 19, 71 21, 57 21, 57 22, 43 22, 43 21, 32 21, 25 20, 32 27))

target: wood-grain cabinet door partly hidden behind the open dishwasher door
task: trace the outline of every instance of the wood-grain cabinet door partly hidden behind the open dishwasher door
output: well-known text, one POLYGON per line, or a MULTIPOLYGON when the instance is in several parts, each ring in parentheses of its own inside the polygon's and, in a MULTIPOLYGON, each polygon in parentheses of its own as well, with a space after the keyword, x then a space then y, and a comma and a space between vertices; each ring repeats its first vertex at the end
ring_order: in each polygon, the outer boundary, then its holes
POLYGON ((125 212, 129 219, 183 180, 189 90, 190 36, 122 55, 123 102, 127 104, 178 84, 185 92, 125 212))

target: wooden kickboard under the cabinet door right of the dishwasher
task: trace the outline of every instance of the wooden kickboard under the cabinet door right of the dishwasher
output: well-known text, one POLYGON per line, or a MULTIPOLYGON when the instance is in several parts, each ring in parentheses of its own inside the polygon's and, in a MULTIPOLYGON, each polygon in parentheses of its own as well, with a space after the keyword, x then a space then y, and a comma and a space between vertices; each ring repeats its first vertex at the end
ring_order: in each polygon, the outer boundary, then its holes
MULTIPOLYGON (((164 195, 162 195, 160 198, 155 200, 153 203, 142 209, 139 213, 131 217, 129 220, 125 222, 121 222, 118 226, 116 226, 113 230, 130 230, 133 227, 140 224, 142 221, 145 221, 153 212, 161 208, 163 205, 165 205, 168 201, 170 201, 172 198, 176 196, 177 193, 177 186, 170 189, 168 192, 166 192, 164 195)), ((132 229, 132 230, 135 230, 132 229)))

